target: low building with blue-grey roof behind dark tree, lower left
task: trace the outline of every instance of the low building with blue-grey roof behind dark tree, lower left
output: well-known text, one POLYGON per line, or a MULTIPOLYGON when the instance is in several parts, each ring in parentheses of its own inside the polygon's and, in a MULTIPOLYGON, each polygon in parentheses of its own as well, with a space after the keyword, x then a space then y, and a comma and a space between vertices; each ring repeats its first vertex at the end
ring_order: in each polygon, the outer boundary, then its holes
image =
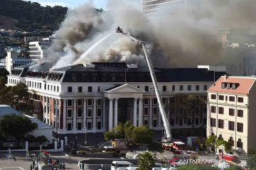
POLYGON ((4 115, 11 115, 11 114, 26 116, 33 123, 36 123, 38 125, 38 128, 36 128, 36 130, 34 130, 31 133, 33 136, 38 137, 38 136, 44 135, 50 142, 53 140, 53 128, 50 125, 46 125, 46 123, 41 122, 40 120, 38 120, 37 118, 34 118, 31 115, 21 114, 11 106, 0 105, 0 119, 4 115))

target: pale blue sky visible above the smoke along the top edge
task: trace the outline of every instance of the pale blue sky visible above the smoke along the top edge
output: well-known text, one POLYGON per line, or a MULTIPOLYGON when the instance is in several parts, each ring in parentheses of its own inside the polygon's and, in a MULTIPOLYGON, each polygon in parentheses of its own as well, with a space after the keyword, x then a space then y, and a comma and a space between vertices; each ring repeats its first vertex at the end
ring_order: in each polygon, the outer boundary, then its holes
MULTIPOLYGON (((41 4, 41 6, 68 6, 69 8, 75 8, 81 4, 92 1, 96 8, 107 9, 107 0, 26 0, 34 1, 41 4)), ((110 0, 111 1, 111 0, 110 0)), ((139 5, 141 0, 125 0, 127 2, 132 2, 132 4, 139 5)), ((91 2, 90 2, 91 3, 91 2)))

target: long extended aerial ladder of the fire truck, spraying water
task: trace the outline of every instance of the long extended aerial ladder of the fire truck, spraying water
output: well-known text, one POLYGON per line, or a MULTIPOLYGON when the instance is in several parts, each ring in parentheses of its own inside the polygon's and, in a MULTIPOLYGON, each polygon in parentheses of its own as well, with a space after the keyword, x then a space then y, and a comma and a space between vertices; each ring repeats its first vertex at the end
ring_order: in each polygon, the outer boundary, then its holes
POLYGON ((127 35, 133 41, 137 42, 139 45, 142 45, 144 53, 145 53, 146 63, 149 67, 150 76, 151 76, 151 79, 152 79, 152 82, 153 82, 153 85, 154 85, 154 91, 156 93, 157 102, 159 104, 159 111, 161 113, 161 118, 162 118, 163 123, 164 123, 164 129, 165 129, 165 140, 164 141, 171 141, 171 128, 170 128, 170 125, 169 125, 168 118, 166 116, 166 111, 164 109, 164 104, 163 104, 162 98, 160 96, 159 86, 157 84, 156 75, 154 73, 154 68, 153 68, 151 59, 149 57, 149 53, 146 50, 146 42, 144 42, 142 40, 139 40, 137 38, 134 38, 134 36, 130 35, 129 33, 124 33, 122 28, 118 27, 116 32, 127 35))

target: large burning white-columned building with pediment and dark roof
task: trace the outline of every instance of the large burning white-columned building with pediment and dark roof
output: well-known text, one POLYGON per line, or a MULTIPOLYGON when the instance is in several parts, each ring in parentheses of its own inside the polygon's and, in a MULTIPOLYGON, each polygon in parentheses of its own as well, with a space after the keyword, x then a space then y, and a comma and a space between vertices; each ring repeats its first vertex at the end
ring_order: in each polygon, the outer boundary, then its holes
MULTIPOLYGON (((127 120, 135 126, 164 129, 147 67, 115 62, 50 69, 52 66, 43 63, 17 67, 8 76, 7 85, 14 86, 20 81, 26 84, 36 103, 35 112, 55 128, 57 135, 105 132, 127 120)), ((176 94, 206 98, 214 75, 218 79, 225 74, 198 68, 155 69, 155 72, 166 108, 176 94)), ((177 135, 198 135, 197 128, 206 125, 206 112, 203 117, 198 113, 193 117, 166 111, 171 129, 177 135)))

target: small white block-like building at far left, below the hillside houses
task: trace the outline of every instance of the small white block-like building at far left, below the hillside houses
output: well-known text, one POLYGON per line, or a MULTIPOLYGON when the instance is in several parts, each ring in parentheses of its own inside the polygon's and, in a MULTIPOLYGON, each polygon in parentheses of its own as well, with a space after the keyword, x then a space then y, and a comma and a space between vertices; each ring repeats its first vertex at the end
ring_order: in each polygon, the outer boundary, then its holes
POLYGON ((6 59, 3 60, 5 68, 8 72, 11 72, 14 67, 31 63, 31 59, 28 57, 18 57, 18 53, 14 51, 7 51, 6 59))

